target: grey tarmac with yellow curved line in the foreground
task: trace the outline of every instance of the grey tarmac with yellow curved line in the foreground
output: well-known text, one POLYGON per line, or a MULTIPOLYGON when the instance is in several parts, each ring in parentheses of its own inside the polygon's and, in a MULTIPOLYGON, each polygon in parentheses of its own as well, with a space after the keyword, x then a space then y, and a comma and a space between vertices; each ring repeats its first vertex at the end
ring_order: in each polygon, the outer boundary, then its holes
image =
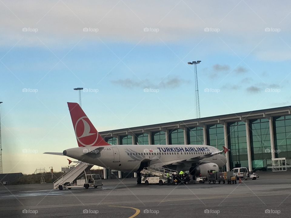
POLYGON ((136 184, 53 190, 50 184, 0 186, 0 217, 290 217, 291 172, 262 172, 237 184, 136 184))

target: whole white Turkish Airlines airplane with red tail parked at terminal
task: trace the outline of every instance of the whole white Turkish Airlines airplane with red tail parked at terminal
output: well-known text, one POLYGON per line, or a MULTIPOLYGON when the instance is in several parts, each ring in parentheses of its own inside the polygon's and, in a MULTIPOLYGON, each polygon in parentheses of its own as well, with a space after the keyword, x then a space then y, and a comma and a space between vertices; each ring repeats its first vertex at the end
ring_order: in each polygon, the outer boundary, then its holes
POLYGON ((136 172, 137 183, 141 183, 140 171, 144 167, 165 167, 187 171, 195 176, 206 176, 208 170, 219 170, 226 164, 229 150, 219 150, 209 145, 111 145, 105 142, 87 115, 77 103, 68 102, 75 136, 79 147, 69 148, 64 155, 109 170, 136 172))

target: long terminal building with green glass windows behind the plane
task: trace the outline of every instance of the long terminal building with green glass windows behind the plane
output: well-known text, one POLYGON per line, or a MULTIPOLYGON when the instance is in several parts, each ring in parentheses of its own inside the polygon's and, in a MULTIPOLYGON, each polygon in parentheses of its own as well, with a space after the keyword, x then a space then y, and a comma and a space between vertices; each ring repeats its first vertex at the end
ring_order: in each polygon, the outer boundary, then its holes
MULTIPOLYGON (((229 148, 223 170, 291 165, 291 106, 99 132, 109 144, 205 144, 229 148)), ((105 170, 105 177, 108 170, 105 170)), ((118 172, 118 177, 124 177, 118 172)))

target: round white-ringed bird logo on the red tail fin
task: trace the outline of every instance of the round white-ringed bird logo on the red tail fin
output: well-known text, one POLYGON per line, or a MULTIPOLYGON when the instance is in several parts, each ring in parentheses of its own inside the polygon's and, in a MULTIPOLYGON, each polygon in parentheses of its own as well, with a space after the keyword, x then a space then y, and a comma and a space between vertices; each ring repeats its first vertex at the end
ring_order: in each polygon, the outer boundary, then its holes
POLYGON ((75 134, 78 142, 83 146, 92 146, 97 142, 98 132, 89 121, 88 117, 80 117, 75 124, 75 134), (93 132, 91 131, 93 130, 93 132))

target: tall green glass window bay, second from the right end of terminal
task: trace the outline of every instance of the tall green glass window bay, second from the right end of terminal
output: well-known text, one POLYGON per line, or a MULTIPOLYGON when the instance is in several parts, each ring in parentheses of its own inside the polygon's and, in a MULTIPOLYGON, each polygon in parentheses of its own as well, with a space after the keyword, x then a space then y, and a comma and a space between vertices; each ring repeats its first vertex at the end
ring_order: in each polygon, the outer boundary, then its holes
POLYGON ((272 166, 269 120, 250 120, 249 128, 253 170, 272 166))

